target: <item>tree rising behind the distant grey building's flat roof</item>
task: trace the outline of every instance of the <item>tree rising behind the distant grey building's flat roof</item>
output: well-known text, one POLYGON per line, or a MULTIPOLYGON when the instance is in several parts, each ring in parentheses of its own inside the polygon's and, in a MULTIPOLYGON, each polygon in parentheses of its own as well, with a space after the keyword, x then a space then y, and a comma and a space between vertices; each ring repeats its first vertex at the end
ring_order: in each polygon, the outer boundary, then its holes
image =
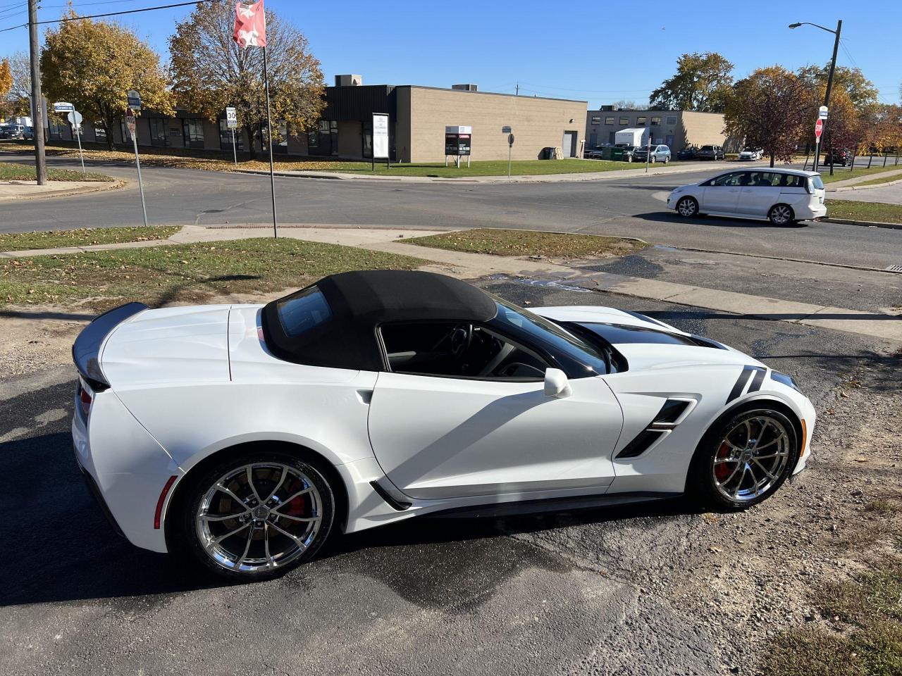
POLYGON ((684 54, 676 60, 676 75, 651 93, 649 103, 659 110, 723 113, 733 83, 732 68, 716 52, 684 54))

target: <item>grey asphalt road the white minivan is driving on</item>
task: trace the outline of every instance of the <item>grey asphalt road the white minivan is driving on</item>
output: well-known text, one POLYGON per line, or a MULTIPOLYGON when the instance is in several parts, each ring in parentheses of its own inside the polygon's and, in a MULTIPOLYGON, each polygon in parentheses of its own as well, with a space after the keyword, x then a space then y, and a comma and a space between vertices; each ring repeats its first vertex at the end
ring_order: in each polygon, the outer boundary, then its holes
MULTIPOLYGON (((14 160, 8 157, 7 160, 14 160)), ((21 160, 21 158, 20 158, 21 160)), ((67 160, 52 165, 74 166, 67 160)), ((134 180, 132 168, 91 168, 134 180)), ((191 169, 143 168, 152 224, 267 224, 269 178, 191 169)), ((615 234, 704 251, 815 260, 885 269, 902 263, 902 231, 842 224, 776 228, 724 218, 685 220, 662 200, 697 172, 590 182, 478 184, 276 178, 284 224, 508 227, 615 234)), ((137 187, 86 196, 0 204, 0 232, 142 223, 137 187)))

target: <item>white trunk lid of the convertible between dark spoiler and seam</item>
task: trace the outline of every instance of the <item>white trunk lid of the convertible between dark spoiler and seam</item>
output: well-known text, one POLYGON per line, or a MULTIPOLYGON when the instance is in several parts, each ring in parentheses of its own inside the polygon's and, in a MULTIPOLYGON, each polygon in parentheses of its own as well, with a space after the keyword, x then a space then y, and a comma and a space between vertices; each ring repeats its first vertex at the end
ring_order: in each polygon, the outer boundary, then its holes
POLYGON ((229 307, 164 307, 129 317, 102 348, 106 379, 114 388, 228 381, 229 307))

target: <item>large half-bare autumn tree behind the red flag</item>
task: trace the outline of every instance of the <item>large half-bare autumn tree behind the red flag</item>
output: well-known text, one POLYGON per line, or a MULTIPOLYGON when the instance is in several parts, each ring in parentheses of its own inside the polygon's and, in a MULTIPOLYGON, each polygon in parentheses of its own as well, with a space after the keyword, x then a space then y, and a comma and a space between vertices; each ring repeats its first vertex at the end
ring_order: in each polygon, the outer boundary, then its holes
MULTIPOLYGON (((197 5, 176 26, 170 37, 172 89, 180 105, 210 120, 234 106, 238 123, 253 140, 254 129, 266 124, 262 50, 235 44, 234 22, 235 5, 217 0, 197 5)), ((292 133, 312 128, 325 107, 319 60, 310 53, 307 38, 270 10, 266 42, 273 126, 284 123, 292 133)), ((253 160, 256 152, 250 145, 253 160)))

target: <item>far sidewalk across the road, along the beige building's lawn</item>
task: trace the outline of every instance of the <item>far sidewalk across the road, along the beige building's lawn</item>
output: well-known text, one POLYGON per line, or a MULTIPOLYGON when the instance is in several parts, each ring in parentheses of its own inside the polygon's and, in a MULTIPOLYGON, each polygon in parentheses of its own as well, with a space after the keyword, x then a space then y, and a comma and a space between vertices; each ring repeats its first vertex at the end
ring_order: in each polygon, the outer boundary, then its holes
MULTIPOLYGON (((553 162, 555 160, 548 160, 553 162)), ((595 160, 583 160, 588 166, 595 160)), ((748 167, 763 167, 763 162, 742 163, 748 167)), ((699 171, 700 169, 732 169, 736 166, 736 162, 686 162, 676 166, 650 164, 649 172, 645 172, 645 165, 633 165, 623 163, 623 169, 613 169, 611 171, 586 171, 565 174, 538 174, 534 176, 461 176, 460 178, 446 177, 428 177, 428 176, 385 176, 380 174, 350 173, 342 171, 304 171, 302 169, 288 169, 276 171, 275 175, 282 178, 324 178, 335 180, 366 180, 366 181, 389 181, 402 183, 566 183, 575 181, 597 181, 597 180, 615 180, 618 178, 642 177, 642 176, 662 176, 665 174, 680 174, 699 171)), ((398 165, 403 167, 404 165, 398 165)), ((234 173, 239 174, 261 174, 269 176, 270 172, 262 169, 234 169, 234 173)), ((390 169, 391 171, 391 169, 390 169)))

